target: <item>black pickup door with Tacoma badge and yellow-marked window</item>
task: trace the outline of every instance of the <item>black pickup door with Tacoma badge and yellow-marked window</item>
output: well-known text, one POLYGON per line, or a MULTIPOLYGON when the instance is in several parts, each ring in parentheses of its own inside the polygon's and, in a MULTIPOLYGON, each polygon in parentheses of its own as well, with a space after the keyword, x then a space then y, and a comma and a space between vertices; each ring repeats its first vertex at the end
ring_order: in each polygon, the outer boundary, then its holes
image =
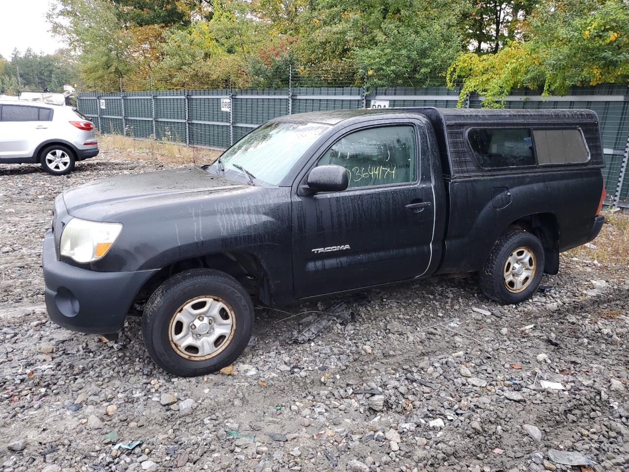
POLYGON ((311 167, 345 167, 341 192, 293 189, 296 298, 413 279, 430 264, 435 194, 421 120, 379 120, 328 143, 311 167))

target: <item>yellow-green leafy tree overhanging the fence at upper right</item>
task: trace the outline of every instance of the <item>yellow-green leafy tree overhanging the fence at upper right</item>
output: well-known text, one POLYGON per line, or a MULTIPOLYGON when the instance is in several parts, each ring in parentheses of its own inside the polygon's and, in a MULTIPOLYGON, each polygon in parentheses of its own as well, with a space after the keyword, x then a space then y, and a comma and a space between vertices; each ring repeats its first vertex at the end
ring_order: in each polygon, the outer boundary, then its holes
POLYGON ((463 53, 448 70, 448 83, 464 81, 460 101, 484 96, 501 106, 511 89, 629 82, 629 9, 622 0, 564 0, 540 5, 525 25, 528 40, 513 41, 494 55, 463 53))

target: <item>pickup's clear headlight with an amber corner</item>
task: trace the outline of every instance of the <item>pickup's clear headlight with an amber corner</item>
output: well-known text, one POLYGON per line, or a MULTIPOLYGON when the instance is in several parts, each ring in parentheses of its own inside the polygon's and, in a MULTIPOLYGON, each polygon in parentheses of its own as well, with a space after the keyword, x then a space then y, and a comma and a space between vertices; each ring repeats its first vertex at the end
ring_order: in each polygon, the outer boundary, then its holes
POLYGON ((98 261, 107 254, 121 231, 121 223, 97 223, 72 218, 61 233, 61 255, 81 264, 98 261))

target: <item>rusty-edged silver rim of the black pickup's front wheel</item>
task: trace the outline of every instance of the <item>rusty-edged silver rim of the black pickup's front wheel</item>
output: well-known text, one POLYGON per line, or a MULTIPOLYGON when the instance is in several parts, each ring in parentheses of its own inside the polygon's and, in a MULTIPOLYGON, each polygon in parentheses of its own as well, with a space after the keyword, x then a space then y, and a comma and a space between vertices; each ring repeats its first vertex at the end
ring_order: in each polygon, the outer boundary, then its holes
POLYGON ((186 301, 172 315, 168 339, 179 356, 205 361, 229 346, 235 330, 233 308, 218 296, 204 295, 186 301))

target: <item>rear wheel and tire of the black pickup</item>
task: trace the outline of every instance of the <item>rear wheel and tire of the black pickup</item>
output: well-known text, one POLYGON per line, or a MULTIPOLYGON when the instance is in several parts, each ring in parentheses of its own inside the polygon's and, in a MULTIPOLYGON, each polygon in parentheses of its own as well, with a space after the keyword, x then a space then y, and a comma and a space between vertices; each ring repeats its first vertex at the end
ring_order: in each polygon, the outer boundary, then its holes
POLYGON ((482 266, 482 292, 503 305, 530 298, 542 281, 544 249, 540 240, 526 231, 507 230, 482 266), (532 268, 532 269, 531 269, 532 268))

